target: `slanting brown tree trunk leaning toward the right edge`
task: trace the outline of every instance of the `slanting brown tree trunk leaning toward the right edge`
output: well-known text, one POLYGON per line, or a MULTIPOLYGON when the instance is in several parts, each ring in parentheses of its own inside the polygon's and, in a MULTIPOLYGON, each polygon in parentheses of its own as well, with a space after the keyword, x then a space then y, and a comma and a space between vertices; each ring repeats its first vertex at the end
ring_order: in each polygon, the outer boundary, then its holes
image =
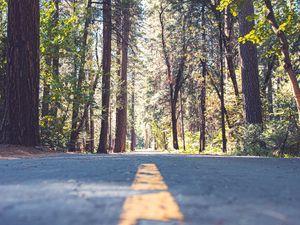
POLYGON ((297 76, 295 71, 293 70, 292 61, 290 57, 290 51, 289 51, 289 43, 288 39, 286 37, 286 34, 283 30, 279 29, 278 22, 274 15, 273 6, 270 0, 264 0, 265 5, 267 6, 269 13, 267 15, 267 19, 270 22, 274 33, 276 34, 277 38, 280 41, 281 45, 281 53, 283 55, 283 62, 284 62, 284 70, 289 76, 289 80, 292 85, 294 98, 297 104, 297 110, 298 110, 298 117, 299 117, 299 124, 300 124, 300 87, 297 80, 297 76))

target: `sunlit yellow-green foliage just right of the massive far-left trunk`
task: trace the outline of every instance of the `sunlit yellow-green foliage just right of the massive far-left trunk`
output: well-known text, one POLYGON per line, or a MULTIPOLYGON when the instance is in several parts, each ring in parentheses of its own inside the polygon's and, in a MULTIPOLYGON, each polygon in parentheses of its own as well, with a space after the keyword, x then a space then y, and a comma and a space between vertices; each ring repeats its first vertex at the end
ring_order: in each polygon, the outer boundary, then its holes
MULTIPOLYGON (((62 7, 63 3, 59 4, 58 19, 55 18, 57 9, 54 1, 41 1, 40 12, 41 89, 46 86, 50 89, 48 96, 43 96, 43 103, 49 104, 50 112, 41 118, 41 139, 44 145, 51 147, 66 147, 68 144, 71 132, 70 110, 74 96, 79 96, 80 105, 94 102, 91 99, 90 80, 83 82, 83 89, 77 88, 82 51, 80 40, 86 18, 85 4, 76 3, 67 7, 62 7), (56 57, 59 57, 59 75, 55 74, 53 67, 56 57)), ((90 67, 89 72, 94 75, 93 64, 90 67)))

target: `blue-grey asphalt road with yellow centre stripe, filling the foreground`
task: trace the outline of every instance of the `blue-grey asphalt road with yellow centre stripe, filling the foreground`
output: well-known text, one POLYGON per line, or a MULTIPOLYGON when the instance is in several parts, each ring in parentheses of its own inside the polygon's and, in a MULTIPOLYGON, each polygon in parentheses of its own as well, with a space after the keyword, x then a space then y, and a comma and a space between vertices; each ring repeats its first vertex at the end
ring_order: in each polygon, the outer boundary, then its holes
POLYGON ((168 154, 0 161, 0 225, 299 225, 300 159, 168 154))

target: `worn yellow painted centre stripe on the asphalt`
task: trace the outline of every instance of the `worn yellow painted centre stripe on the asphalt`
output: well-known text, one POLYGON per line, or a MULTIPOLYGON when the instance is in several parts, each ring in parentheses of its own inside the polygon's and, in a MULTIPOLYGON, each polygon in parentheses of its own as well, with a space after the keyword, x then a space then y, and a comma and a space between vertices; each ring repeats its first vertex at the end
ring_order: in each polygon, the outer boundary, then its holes
POLYGON ((130 196, 123 206, 119 225, 135 225, 139 220, 183 221, 183 215, 155 164, 142 164, 131 186, 137 191, 157 191, 130 196))

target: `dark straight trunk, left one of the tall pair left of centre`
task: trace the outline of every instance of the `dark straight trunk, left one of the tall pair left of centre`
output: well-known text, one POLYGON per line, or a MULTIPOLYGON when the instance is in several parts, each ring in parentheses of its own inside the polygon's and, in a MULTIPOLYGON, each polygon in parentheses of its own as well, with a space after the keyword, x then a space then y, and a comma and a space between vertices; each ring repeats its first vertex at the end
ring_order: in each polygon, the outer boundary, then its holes
POLYGON ((102 120, 98 153, 108 153, 112 15, 111 0, 103 1, 102 120))

